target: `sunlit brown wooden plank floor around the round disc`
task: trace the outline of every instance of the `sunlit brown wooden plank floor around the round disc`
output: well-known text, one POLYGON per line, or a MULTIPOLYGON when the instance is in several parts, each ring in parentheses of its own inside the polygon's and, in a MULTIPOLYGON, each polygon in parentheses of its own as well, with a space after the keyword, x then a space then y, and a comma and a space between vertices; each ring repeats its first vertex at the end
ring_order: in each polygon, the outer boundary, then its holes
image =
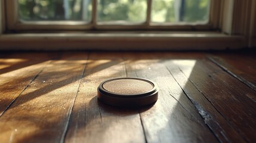
POLYGON ((256 142, 256 52, 1 52, 0 142, 256 142), (153 80, 143 108, 97 100, 153 80))

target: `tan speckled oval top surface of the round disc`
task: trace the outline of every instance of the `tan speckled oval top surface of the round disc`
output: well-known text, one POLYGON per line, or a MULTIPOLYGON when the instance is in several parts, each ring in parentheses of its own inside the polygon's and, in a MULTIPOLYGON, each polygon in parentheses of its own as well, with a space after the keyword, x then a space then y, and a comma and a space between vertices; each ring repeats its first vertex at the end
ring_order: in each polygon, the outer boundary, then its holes
POLYGON ((154 85, 140 79, 116 79, 105 82, 103 88, 119 95, 135 95, 150 91, 154 85))

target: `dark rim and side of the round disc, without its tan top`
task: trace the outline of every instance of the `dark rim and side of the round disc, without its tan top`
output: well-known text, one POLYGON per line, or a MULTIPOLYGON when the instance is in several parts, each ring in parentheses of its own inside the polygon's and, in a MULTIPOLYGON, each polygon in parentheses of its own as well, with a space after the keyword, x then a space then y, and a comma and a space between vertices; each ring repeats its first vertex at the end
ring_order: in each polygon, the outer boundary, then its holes
POLYGON ((105 80, 104 82, 100 83, 100 85, 98 86, 98 99, 105 102, 106 104, 117 106, 147 105, 152 104, 153 102, 158 100, 158 87, 156 83, 147 79, 139 77, 119 77, 115 79, 105 80), (153 88, 141 94, 116 94, 115 92, 110 92, 103 88, 104 83, 121 79, 142 80, 144 82, 150 83, 153 88))

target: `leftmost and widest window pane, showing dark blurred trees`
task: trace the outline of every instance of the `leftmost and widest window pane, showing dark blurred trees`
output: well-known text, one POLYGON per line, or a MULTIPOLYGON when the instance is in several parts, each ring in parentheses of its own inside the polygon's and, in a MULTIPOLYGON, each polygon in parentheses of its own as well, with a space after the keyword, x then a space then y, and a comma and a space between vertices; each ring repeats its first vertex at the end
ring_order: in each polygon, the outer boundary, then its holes
POLYGON ((20 20, 91 21, 91 0, 18 0, 20 20))

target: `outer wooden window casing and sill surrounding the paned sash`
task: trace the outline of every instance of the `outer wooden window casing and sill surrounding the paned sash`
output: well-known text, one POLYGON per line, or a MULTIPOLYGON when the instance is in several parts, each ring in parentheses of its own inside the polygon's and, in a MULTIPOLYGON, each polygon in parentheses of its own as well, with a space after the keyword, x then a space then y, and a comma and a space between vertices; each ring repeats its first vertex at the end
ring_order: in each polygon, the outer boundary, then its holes
POLYGON ((57 26, 56 29, 52 27, 44 31, 42 31, 44 27, 37 31, 27 30, 17 21, 10 23, 8 20, 10 17, 6 13, 7 6, 10 5, 7 5, 6 1, 10 0, 0 1, 0 15, 2 15, 2 18, 0 16, 0 23, 2 21, 0 50, 183 51, 256 48, 256 1, 254 0, 212 0, 215 2, 211 5, 211 11, 216 9, 218 11, 214 14, 211 12, 209 20, 211 25, 207 30, 203 27, 196 29, 191 26, 189 28, 171 26, 171 30, 99 29, 96 32, 84 30, 78 32, 72 27, 69 27, 71 32, 67 32, 67 29, 63 30, 66 27, 61 27, 61 30, 57 26), (11 26, 14 26, 13 29, 11 26))

